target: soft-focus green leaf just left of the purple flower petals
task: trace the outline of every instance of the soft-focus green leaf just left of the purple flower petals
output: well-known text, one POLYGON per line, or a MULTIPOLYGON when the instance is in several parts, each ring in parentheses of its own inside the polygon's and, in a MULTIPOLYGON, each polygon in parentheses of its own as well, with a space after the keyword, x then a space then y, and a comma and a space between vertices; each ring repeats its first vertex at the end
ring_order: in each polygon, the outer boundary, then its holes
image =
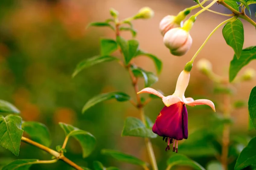
POLYGON ((153 133, 152 129, 147 128, 140 119, 135 117, 128 117, 125 119, 122 136, 156 138, 157 134, 153 133))

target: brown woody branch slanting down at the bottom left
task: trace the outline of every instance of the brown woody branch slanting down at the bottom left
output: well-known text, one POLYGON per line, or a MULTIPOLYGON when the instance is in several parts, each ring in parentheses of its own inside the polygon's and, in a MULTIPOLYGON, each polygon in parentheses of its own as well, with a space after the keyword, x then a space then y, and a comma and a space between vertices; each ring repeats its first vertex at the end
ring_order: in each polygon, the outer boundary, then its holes
POLYGON ((49 154, 51 154, 52 156, 55 156, 56 159, 61 159, 62 161, 64 161, 65 163, 69 164, 70 166, 72 166, 73 168, 75 168, 76 170, 83 170, 83 168, 79 167, 77 164, 75 164, 73 161, 70 161, 69 159, 67 159, 62 153, 58 153, 55 150, 52 150, 49 147, 46 147, 42 144, 39 144, 37 142, 34 142, 26 137, 21 137, 21 141, 26 142, 28 144, 34 145, 35 147, 38 147, 41 150, 44 150, 46 152, 48 152, 49 154))

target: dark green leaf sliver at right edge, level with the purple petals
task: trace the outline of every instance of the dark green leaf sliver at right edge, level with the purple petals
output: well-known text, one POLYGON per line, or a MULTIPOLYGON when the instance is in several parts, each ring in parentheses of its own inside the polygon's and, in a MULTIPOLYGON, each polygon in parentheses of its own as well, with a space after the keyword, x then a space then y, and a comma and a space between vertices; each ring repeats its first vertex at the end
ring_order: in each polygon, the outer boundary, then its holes
POLYGON ((249 110, 249 115, 250 119, 253 122, 253 126, 256 129, 256 86, 252 89, 248 101, 248 110, 249 110))

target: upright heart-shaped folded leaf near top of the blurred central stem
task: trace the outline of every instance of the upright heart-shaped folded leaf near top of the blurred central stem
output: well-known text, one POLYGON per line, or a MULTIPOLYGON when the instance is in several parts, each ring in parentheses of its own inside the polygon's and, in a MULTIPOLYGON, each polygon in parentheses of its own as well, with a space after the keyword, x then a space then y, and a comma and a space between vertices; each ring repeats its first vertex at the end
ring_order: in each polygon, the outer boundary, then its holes
POLYGON ((126 41, 123 37, 117 36, 116 42, 120 46, 122 54, 125 57, 125 64, 129 64, 131 59, 136 56, 139 50, 139 42, 137 40, 126 41))

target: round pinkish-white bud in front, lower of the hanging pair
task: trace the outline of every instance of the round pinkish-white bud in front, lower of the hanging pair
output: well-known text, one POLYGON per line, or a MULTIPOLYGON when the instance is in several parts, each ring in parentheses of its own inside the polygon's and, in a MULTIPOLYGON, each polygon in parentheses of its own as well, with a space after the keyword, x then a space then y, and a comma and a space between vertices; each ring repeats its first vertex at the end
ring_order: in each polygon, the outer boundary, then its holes
POLYGON ((173 55, 182 56, 189 51, 192 45, 192 37, 188 31, 182 28, 173 28, 166 32, 163 42, 173 55))

